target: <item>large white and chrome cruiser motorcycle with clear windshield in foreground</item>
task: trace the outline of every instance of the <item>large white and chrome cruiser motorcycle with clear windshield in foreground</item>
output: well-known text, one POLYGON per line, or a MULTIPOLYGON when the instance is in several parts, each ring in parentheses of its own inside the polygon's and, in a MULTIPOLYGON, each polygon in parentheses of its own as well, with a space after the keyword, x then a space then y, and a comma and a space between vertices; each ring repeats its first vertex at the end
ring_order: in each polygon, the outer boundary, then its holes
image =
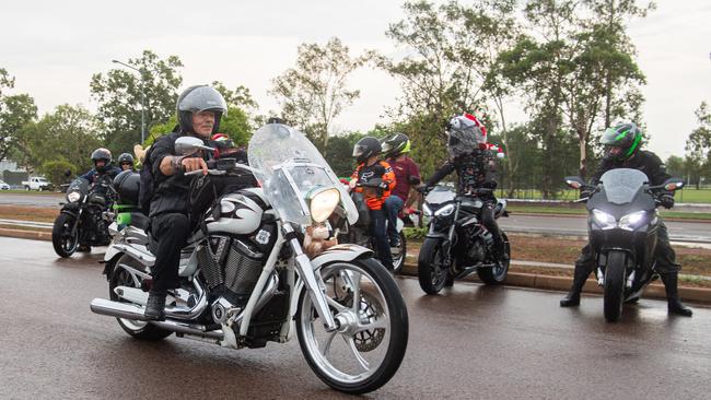
MULTIPOLYGON (((175 149, 211 151, 189 137, 175 149)), ((182 285, 168 292, 164 321, 143 315, 155 257, 150 235, 135 226, 143 220, 133 217, 106 251, 110 299, 93 299, 92 311, 116 317, 126 332, 145 340, 175 333, 256 349, 295 334, 326 385, 348 393, 380 388, 405 356, 408 315, 395 280, 371 250, 334 245, 324 235, 334 212, 356 223, 354 204, 316 148, 293 128, 260 128, 248 157, 248 166, 221 160, 196 177, 246 170, 260 186, 228 192, 202 214, 182 249, 182 285)))

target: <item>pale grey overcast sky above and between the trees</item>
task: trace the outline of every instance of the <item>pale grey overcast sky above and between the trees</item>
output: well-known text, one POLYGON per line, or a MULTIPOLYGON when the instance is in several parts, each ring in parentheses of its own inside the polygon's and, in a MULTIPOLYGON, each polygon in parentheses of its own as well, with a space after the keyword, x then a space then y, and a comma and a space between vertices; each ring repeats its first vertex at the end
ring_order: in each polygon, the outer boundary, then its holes
MULTIPOLYGON (((466 1, 463 1, 466 3, 466 1)), ((711 101, 711 1, 658 0, 630 35, 646 74, 648 148, 666 158, 683 155, 696 127, 693 110, 711 101)), ((93 73, 151 49, 178 56, 184 85, 222 81, 249 87, 260 111, 277 109, 270 80, 293 66, 296 46, 338 36, 353 54, 396 51, 387 25, 403 17, 400 1, 12 1, 0 14, 0 68, 16 78, 40 113, 59 104, 95 108, 93 73)), ((342 130, 368 130, 395 104, 398 85, 382 71, 350 79, 361 98, 337 120, 342 130)), ((510 119, 525 116, 512 104, 510 119)))

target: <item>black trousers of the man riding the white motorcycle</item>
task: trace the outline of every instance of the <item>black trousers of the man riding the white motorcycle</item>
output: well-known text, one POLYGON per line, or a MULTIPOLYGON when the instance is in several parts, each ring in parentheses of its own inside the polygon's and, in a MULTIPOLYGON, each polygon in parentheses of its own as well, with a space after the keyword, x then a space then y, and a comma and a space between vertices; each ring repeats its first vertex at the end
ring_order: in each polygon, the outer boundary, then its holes
POLYGON ((190 234, 190 220, 180 213, 155 215, 151 220, 151 234, 156 242, 155 264, 151 268, 152 290, 165 292, 178 287, 180 249, 190 234))

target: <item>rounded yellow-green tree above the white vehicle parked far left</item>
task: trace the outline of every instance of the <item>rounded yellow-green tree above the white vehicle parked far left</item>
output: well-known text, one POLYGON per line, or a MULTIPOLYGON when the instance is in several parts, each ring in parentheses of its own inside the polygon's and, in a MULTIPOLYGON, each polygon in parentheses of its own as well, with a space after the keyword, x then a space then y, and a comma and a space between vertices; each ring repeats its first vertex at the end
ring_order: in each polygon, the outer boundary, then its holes
POLYGON ((92 151, 102 145, 100 121, 81 106, 60 105, 39 121, 27 123, 18 133, 21 163, 30 169, 42 169, 49 162, 67 162, 74 172, 93 165, 92 151))

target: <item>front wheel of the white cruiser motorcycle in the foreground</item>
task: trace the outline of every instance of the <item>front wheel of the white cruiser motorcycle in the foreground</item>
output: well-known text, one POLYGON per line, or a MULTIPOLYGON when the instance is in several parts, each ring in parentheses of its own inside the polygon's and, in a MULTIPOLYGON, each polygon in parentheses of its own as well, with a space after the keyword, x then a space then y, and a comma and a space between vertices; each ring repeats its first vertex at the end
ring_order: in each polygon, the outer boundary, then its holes
POLYGON ((334 315, 351 315, 354 322, 341 326, 345 331, 326 332, 303 290, 295 319, 304 357, 318 378, 336 390, 373 391, 395 375, 405 357, 409 328, 403 295, 393 275, 373 258, 331 262, 320 268, 320 274, 334 315), (363 320, 373 327, 365 328, 363 320))

